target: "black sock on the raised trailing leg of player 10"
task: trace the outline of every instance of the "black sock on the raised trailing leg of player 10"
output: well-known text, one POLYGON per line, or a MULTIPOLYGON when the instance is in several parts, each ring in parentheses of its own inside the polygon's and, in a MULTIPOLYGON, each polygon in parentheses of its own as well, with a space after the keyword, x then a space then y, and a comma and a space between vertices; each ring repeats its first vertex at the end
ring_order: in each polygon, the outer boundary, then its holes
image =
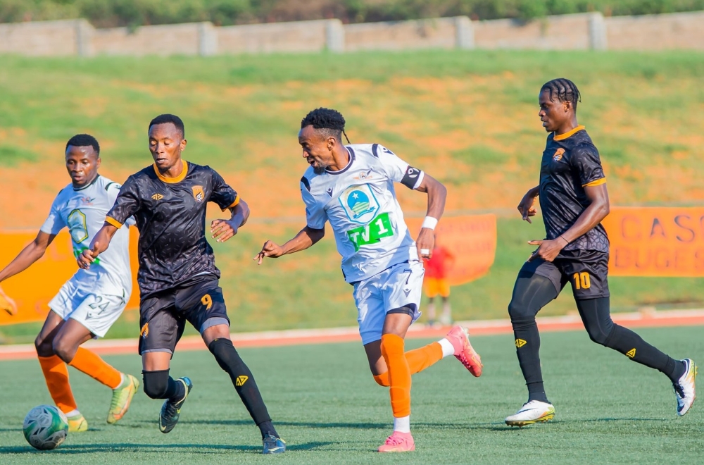
POLYGON ((642 337, 623 326, 615 324, 604 345, 621 352, 641 365, 649 366, 665 373, 672 380, 672 383, 677 383, 677 380, 684 374, 684 364, 680 360, 675 360, 661 352, 644 341, 642 337))

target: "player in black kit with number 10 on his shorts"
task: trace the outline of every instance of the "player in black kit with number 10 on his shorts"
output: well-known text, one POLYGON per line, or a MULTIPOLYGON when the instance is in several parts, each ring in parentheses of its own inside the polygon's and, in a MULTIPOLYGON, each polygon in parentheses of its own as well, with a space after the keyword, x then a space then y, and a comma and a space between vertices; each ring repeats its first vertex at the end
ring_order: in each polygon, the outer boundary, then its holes
POLYGON ((567 79, 552 80, 540 89, 538 115, 549 133, 548 141, 540 184, 525 194, 518 210, 531 223, 535 197, 540 197, 546 239, 529 241, 539 248, 518 273, 508 306, 516 353, 528 386, 528 402, 505 419, 510 426, 548 421, 555 415, 543 389, 535 316, 567 283, 572 285, 579 316, 593 342, 665 373, 674 387, 678 415, 686 414, 695 399, 697 368, 691 359, 672 359, 611 320, 609 240, 601 225, 609 213, 608 192, 599 152, 584 126, 577 124, 578 101, 579 90, 567 79))

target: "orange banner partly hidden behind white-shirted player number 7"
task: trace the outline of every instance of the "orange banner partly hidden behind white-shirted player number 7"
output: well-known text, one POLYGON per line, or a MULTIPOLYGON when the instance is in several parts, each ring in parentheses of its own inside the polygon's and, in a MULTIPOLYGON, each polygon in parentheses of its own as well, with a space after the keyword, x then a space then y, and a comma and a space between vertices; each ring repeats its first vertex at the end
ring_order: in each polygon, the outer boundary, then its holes
MULTIPOLYGON (((422 222, 422 218, 406 218, 414 239, 422 222)), ((454 255, 447 271, 450 285, 469 283, 489 272, 496 255, 496 216, 442 218, 435 232, 438 243, 454 255)))

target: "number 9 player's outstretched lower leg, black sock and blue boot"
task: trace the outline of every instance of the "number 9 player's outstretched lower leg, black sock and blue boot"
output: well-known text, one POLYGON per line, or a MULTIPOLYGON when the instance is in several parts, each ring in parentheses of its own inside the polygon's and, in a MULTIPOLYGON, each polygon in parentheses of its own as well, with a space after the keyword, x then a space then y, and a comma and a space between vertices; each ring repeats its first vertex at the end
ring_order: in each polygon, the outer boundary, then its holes
POLYGON ((279 438, 271 417, 262 399, 259 387, 249 367, 241 359, 230 340, 230 326, 226 324, 213 325, 201 333, 203 342, 215 356, 222 368, 232 380, 244 407, 251 415, 254 423, 262 433, 264 454, 278 454, 286 451, 286 442, 279 438))

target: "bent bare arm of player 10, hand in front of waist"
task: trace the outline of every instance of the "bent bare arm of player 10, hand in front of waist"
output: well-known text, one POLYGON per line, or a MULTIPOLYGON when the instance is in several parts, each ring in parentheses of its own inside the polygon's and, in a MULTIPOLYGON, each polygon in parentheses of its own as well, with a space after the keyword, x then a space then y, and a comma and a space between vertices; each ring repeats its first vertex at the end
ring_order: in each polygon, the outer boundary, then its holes
POLYGON ((572 228, 562 233, 555 240, 530 240, 529 244, 539 245, 539 249, 530 256, 528 261, 531 261, 536 256, 546 261, 553 261, 560 251, 570 242, 582 237, 587 231, 593 229, 606 218, 610 212, 609 193, 606 190, 606 184, 596 186, 585 186, 584 193, 589 199, 589 206, 582 211, 577 221, 574 222, 572 228))

